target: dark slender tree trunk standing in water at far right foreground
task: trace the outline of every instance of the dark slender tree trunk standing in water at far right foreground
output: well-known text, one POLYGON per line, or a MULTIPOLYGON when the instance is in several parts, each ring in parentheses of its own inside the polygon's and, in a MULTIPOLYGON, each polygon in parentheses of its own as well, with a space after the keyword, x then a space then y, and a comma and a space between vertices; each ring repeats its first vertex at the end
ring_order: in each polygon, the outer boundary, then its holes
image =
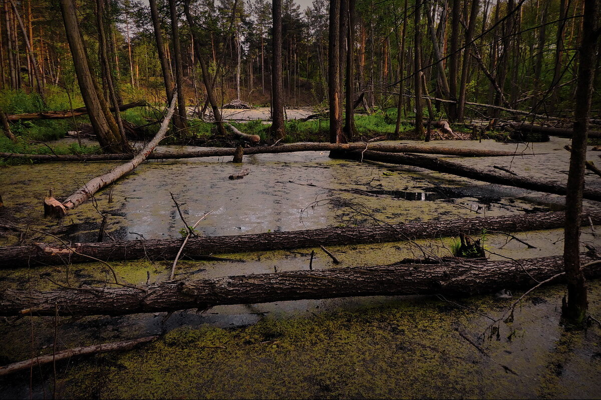
MULTIPOLYGON (((563 1, 562 1, 563 4, 563 1)), ((580 324, 587 313, 587 286, 578 257, 580 248, 580 222, 582 219, 582 197, 586 198, 584 189, 584 169, 587 156, 588 116, 591 110, 593 95, 593 76, 595 54, 599 31, 599 1, 584 1, 584 19, 582 22, 582 42, 579 49, 578 86, 574 112, 574 134, 572 137, 572 155, 567 178, 566 196, 566 228, 564 241, 564 262, 568 282, 567 306, 564 315, 569 320, 580 324)))

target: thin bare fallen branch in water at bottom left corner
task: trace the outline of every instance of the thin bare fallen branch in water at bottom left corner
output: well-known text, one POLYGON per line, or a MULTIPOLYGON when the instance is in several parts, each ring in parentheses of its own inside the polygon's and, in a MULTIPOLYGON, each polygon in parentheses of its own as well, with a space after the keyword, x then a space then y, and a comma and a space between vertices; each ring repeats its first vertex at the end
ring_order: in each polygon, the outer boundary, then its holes
POLYGON ((45 365, 52 362, 58 362, 62 360, 69 360, 73 357, 91 356, 93 354, 109 353, 110 351, 127 351, 132 348, 150 343, 158 339, 159 336, 146 336, 145 338, 125 340, 121 342, 112 342, 104 344, 94 344, 85 347, 74 347, 68 350, 58 351, 55 354, 48 354, 47 356, 38 356, 29 360, 19 361, 5 366, 0 366, 0 377, 13 372, 24 371, 25 369, 34 368, 39 365, 45 365))

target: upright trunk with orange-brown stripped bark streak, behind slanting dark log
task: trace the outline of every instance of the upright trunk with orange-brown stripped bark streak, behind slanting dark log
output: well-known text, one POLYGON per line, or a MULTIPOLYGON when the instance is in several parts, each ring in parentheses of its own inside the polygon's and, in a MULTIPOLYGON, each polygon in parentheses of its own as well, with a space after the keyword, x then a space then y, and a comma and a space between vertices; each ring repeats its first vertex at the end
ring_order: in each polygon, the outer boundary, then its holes
POLYGON ((330 1, 328 51, 330 143, 340 143, 342 137, 340 104, 340 0, 330 1))

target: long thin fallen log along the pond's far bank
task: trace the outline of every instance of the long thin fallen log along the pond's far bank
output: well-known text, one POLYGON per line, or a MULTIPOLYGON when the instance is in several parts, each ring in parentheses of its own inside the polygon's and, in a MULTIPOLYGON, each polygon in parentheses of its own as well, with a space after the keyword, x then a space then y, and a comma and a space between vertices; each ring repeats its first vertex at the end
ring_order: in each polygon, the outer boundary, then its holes
MULTIPOLYGON (((498 151, 487 149, 456 149, 439 146, 423 145, 382 145, 380 143, 295 143, 293 145, 281 146, 258 146, 244 149, 244 155, 253 154, 279 154, 300 151, 332 151, 332 150, 365 150, 381 151, 387 153, 423 153, 457 155, 462 157, 507 157, 516 155, 516 152, 498 151)), ((227 157, 233 156, 236 149, 210 149, 200 151, 188 151, 181 153, 153 153, 148 160, 168 160, 177 158, 200 158, 200 157, 227 157)), ((0 153, 2 158, 23 157, 33 161, 119 161, 131 160, 131 154, 93 154, 93 155, 49 155, 49 154, 15 154, 0 153)))

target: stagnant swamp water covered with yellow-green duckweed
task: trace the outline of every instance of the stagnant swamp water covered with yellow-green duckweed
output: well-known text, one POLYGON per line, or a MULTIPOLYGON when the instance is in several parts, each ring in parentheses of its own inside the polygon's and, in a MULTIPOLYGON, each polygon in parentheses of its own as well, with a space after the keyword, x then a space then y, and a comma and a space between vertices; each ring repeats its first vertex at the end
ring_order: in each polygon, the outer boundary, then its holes
MULTIPOLYGON (((498 172, 492 168, 496 165, 563 182, 569 157, 564 142, 552 139, 536 144, 534 151, 531 146, 492 142, 433 144, 516 149, 516 157, 456 160, 484 170, 498 172)), ((411 167, 331 160, 321 152, 254 155, 245 157, 244 164, 228 161, 229 157, 149 161, 113 185, 111 203, 109 190, 104 190, 93 204, 82 205, 61 221, 41 218, 41 199, 47 190, 53 188, 55 197, 64 198, 116 164, 10 167, 0 170, 7 206, 4 216, 79 242, 96 240, 100 213, 109 215, 105 240, 179 237, 183 223, 171 193, 189 225, 210 212, 197 228, 204 235, 534 212, 561 209, 563 201, 560 196, 411 167), (251 169, 244 179, 227 179, 243 168, 251 169)), ((587 187, 601 187, 601 179, 587 175, 587 187)), ((502 234, 483 236, 491 259, 561 254, 563 246, 561 230, 516 235, 534 249, 502 234)), ((28 237, 53 240, 32 232, 28 237)), ((7 233, 0 240, 2 245, 12 245, 19 237, 7 233)), ((330 250, 340 266, 377 265, 417 257, 423 249, 449 255, 453 240, 341 245, 330 250)), ((582 241, 601 246, 591 228, 584 230, 582 241)), ((315 250, 314 267, 334 266, 320 249, 315 250)), ((177 277, 307 269, 310 253, 311 249, 299 249, 220 255, 236 261, 183 260, 177 277)), ((133 284, 165 280, 170 267, 169 261, 160 260, 114 263, 122 279, 133 284)), ((79 282, 108 276, 99 264, 73 266, 70 273, 79 282)), ((55 288, 47 278, 63 282, 64 275, 60 266, 7 269, 0 272, 0 287, 46 290, 55 288)), ((601 310, 599 289, 593 282, 591 312, 596 315, 601 310)), ((59 318, 61 348, 156 333, 165 336, 128 353, 60 364, 58 393, 100 398, 594 397, 601 389, 600 330, 564 332, 558 319, 562 295, 557 286, 529 297, 513 323, 500 323, 498 340, 496 332, 487 330, 490 320, 482 314, 498 318, 515 297, 453 299, 455 303, 424 297, 365 297, 218 306, 203 312, 175 312, 169 318, 164 313, 59 318), (492 358, 479 353, 460 333, 492 358), (498 363, 518 375, 505 372, 498 363)), ((32 348, 34 354, 47 353, 54 326, 53 318, 3 321, 0 363, 31 357, 32 348)), ((49 397, 52 369, 34 372, 32 396, 49 397)), ((29 391, 29 372, 0 380, 3 398, 26 398, 29 391)))

